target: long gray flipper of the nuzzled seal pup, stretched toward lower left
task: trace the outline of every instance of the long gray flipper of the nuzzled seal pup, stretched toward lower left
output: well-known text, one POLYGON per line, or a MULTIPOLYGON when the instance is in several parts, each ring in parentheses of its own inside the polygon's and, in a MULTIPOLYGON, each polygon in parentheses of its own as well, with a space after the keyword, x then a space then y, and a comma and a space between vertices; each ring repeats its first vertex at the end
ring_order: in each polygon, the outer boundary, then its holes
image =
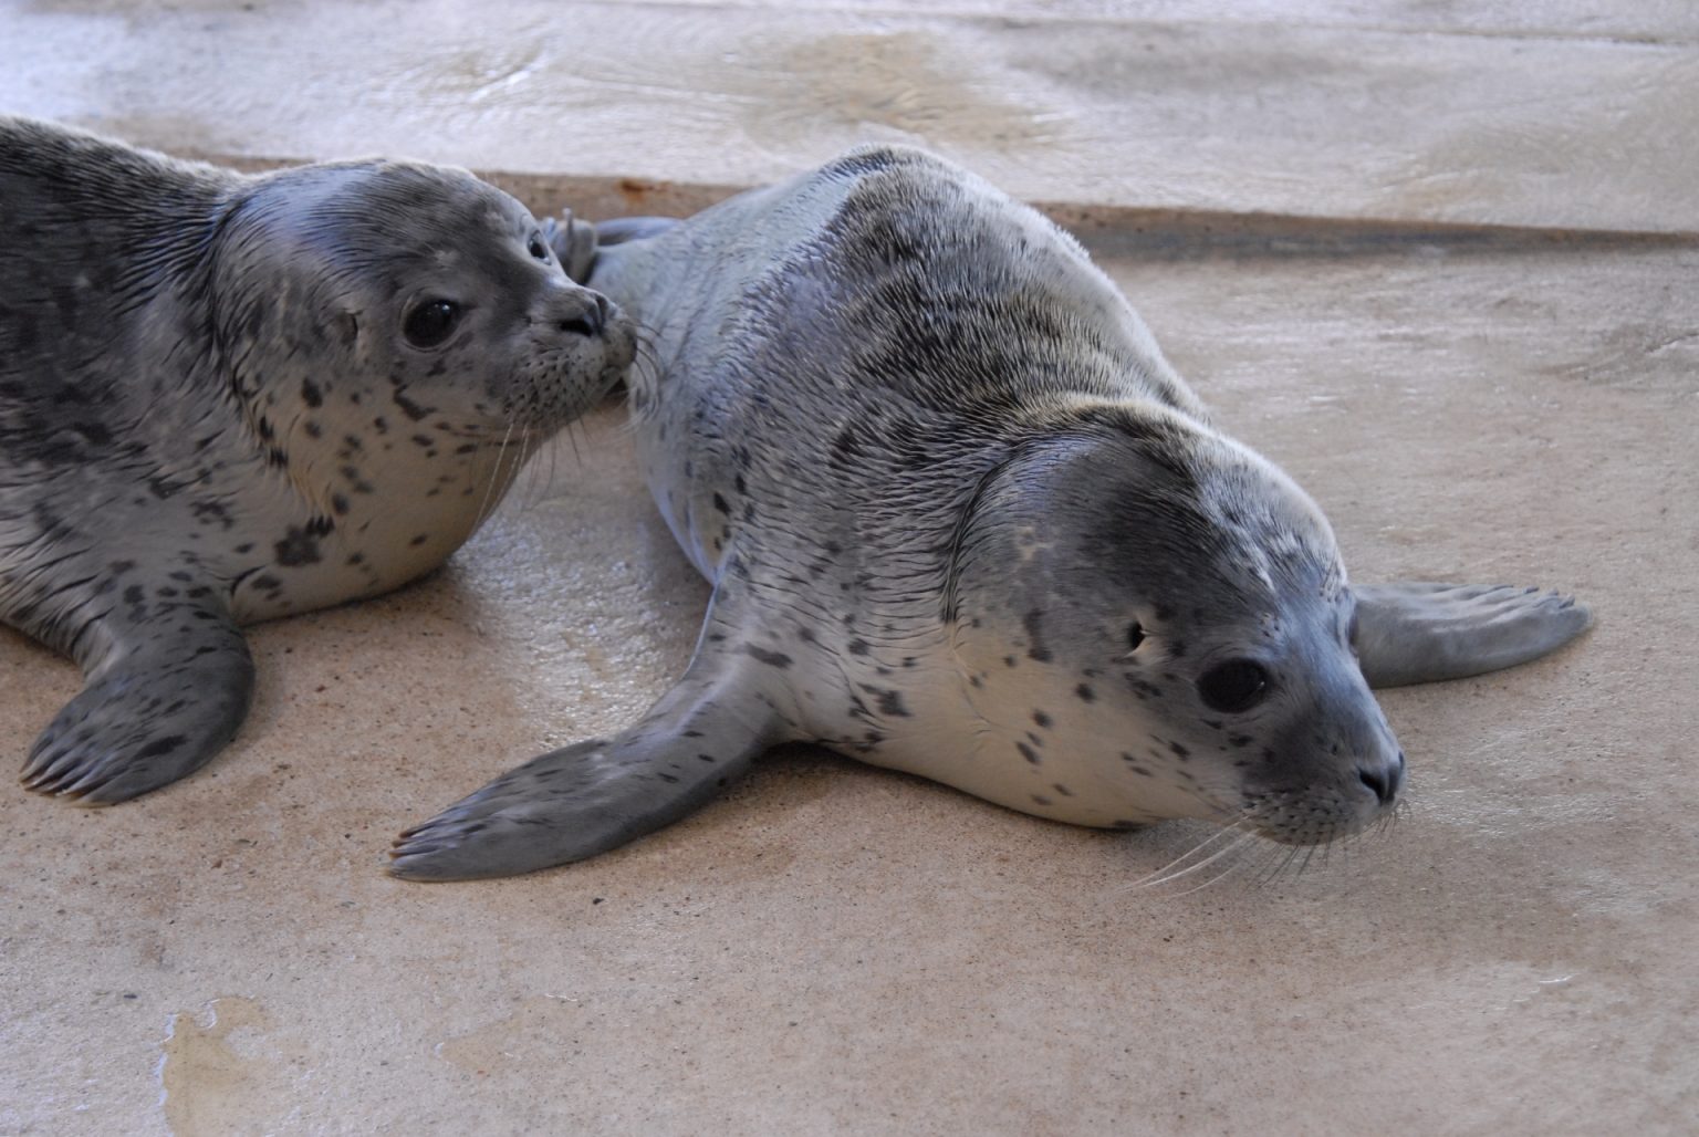
POLYGON ((693 812, 787 739, 751 670, 698 659, 637 726, 533 758, 403 833, 389 872, 508 877, 595 857, 693 812))

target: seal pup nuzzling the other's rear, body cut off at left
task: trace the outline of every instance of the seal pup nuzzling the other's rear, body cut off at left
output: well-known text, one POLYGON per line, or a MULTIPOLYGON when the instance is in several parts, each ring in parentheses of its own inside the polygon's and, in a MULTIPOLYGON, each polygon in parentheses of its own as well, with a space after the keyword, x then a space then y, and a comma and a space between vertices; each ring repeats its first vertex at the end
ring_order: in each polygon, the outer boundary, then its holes
POLYGON ((24 768, 82 804, 206 763, 253 690, 240 624, 440 564, 632 360, 464 170, 245 177, 0 119, 0 620, 83 668, 24 768))

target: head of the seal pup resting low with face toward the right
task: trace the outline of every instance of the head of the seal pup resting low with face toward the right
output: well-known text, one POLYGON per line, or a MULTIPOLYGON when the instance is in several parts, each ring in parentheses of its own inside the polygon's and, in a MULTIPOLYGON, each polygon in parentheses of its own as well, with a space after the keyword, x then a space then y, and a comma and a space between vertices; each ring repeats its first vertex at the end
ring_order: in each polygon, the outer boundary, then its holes
POLYGON ((1325 518, 1177 415, 1084 418, 963 517, 946 625, 977 746, 950 780, 1077 824, 1206 817, 1295 845, 1380 817, 1403 755, 1325 518))

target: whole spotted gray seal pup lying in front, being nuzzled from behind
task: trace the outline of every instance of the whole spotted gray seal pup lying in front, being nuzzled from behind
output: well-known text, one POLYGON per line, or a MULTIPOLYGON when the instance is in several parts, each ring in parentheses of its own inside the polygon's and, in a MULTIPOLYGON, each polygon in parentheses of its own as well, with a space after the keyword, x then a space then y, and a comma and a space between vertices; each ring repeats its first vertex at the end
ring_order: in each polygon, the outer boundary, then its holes
POLYGON ((714 583, 702 637, 630 729, 404 833, 401 877, 590 857, 785 741, 1057 821, 1335 841, 1405 778, 1371 683, 1589 622, 1534 590, 1347 585, 1315 503, 1210 425, 1079 245, 926 153, 601 236, 591 284, 654 333, 632 421, 714 583))

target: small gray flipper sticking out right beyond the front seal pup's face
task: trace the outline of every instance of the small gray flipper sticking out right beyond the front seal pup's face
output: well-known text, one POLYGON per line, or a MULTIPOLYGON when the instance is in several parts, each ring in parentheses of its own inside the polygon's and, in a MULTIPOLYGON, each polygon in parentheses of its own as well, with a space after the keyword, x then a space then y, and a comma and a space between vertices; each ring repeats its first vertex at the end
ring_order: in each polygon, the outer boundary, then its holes
POLYGON ((1510 585, 1359 585, 1352 648, 1369 687, 1432 683, 1538 659, 1580 636, 1592 612, 1510 585))

